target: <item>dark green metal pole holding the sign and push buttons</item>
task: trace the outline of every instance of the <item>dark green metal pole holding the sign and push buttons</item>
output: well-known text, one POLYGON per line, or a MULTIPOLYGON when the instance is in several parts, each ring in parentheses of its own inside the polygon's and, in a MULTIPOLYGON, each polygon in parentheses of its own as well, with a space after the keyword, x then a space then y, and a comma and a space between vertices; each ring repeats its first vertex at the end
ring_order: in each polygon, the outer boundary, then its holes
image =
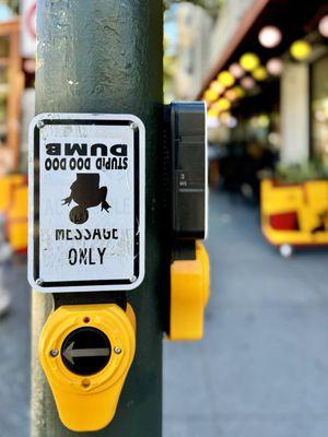
MULTIPOLYGON (((114 422, 87 436, 162 436, 162 32, 156 0, 37 1, 37 114, 133 114, 147 129, 147 273, 127 294, 137 312, 137 355, 114 422)), ((51 307, 51 296, 33 293, 32 437, 77 435, 60 423, 37 357, 51 307)))

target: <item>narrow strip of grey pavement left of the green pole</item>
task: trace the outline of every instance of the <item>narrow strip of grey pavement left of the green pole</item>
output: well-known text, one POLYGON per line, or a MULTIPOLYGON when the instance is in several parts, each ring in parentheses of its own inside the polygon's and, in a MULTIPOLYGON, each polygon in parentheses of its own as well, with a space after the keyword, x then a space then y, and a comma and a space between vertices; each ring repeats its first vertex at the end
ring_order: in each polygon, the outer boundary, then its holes
POLYGON ((31 340, 26 264, 7 264, 0 270, 1 276, 11 291, 13 305, 11 312, 0 319, 0 437, 27 437, 31 340))

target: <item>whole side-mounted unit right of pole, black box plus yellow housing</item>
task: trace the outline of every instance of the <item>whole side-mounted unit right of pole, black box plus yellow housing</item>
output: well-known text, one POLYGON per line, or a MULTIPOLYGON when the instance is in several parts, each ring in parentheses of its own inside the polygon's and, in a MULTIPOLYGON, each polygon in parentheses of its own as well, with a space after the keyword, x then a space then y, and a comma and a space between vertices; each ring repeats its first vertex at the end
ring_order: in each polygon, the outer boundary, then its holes
POLYGON ((166 108, 169 138, 172 263, 167 334, 199 340, 210 294, 206 248, 208 162, 206 105, 174 102, 166 108))

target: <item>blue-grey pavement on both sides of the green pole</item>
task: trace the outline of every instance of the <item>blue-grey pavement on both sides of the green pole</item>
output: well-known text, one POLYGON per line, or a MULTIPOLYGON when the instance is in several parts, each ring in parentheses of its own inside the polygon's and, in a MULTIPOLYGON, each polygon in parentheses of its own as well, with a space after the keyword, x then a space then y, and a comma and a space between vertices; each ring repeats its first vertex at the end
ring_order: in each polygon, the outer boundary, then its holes
MULTIPOLYGON (((243 201, 212 197, 207 333, 165 344, 164 437, 328 435, 328 251, 283 260, 257 221, 243 201)), ((24 277, 25 265, 5 268, 14 303, 0 320, 0 437, 28 436, 24 277)))

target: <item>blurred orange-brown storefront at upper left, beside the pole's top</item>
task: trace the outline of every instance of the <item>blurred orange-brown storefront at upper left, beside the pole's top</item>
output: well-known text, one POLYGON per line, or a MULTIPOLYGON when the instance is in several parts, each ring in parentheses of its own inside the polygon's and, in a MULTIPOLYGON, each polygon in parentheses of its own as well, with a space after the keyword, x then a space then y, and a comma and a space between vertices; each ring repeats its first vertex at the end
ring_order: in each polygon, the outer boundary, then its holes
POLYGON ((9 172, 26 173, 27 126, 34 116, 35 0, 21 15, 0 8, 0 158, 9 172))

